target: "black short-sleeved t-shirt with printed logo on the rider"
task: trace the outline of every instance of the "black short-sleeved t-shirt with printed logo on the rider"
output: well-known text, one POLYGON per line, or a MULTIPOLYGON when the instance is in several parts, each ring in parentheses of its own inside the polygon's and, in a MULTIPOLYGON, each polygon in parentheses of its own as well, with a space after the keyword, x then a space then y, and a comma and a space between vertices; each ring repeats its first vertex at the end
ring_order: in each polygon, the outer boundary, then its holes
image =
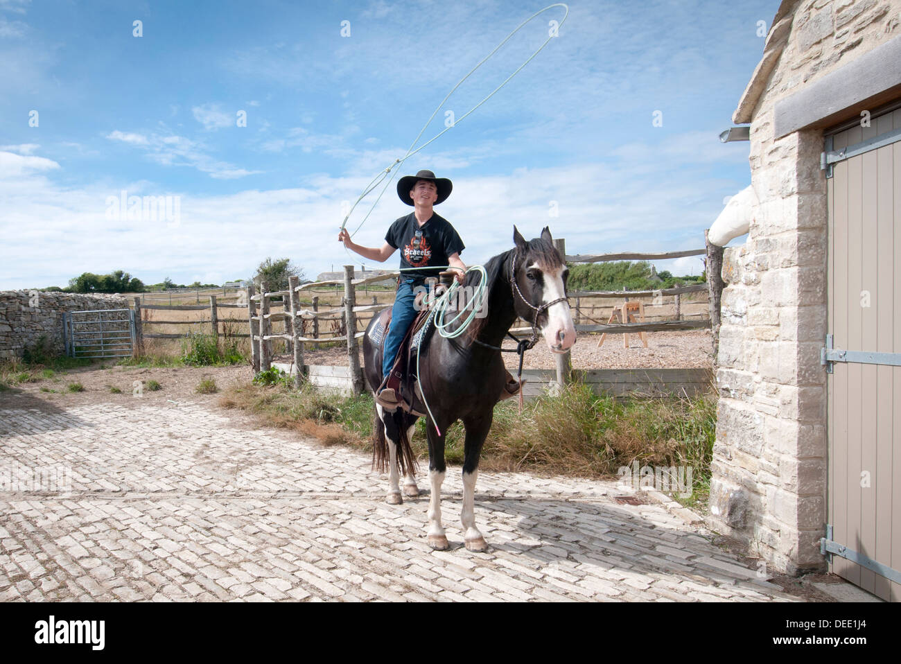
MULTIPOLYGON (((400 250, 401 268, 426 268, 448 264, 448 256, 464 250, 460 235, 443 217, 432 213, 429 221, 420 226, 411 212, 391 224, 385 241, 400 250)), ((438 269, 401 272, 405 279, 438 277, 438 269)))

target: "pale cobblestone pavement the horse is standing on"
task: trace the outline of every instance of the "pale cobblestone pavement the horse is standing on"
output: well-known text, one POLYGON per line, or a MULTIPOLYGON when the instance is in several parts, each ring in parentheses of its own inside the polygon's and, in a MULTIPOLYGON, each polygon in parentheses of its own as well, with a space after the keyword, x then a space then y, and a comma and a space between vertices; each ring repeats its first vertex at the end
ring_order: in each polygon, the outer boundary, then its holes
POLYGON ((481 474, 476 554, 449 468, 451 550, 432 551, 427 491, 387 505, 366 455, 238 420, 190 403, 0 410, 0 601, 797 600, 678 510, 618 504, 614 482, 481 474))

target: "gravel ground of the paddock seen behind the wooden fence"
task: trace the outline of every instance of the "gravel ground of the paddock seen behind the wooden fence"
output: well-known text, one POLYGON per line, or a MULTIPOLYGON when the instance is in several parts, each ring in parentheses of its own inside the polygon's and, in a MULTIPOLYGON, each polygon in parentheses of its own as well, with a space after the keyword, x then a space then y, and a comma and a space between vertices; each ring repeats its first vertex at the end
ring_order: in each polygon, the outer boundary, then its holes
MULTIPOLYGON (((623 348, 622 334, 607 335, 604 345, 597 348, 600 335, 585 334, 578 337, 572 347, 573 368, 708 368, 713 364, 713 349, 709 330, 682 332, 648 332, 648 347, 642 346, 638 334, 629 335, 628 349, 623 348)), ((514 349, 516 344, 507 340, 504 348, 514 349)), ((516 368, 519 358, 515 353, 505 353, 508 368, 516 368)), ((347 364, 347 350, 305 350, 306 364, 347 364)), ((525 354, 523 368, 555 368, 554 355, 543 340, 525 354)))

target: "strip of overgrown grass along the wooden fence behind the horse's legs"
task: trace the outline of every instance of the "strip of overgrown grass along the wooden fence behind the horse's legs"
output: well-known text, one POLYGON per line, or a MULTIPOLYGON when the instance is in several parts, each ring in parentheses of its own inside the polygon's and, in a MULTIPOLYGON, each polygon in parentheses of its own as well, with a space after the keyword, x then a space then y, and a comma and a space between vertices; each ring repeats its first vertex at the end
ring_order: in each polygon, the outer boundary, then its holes
MULTIPOLYGON (((257 414, 261 423, 372 450, 375 408, 369 394, 329 396, 309 386, 286 387, 276 379, 268 387, 231 387, 219 403, 257 414)), ((692 468, 692 496, 675 497, 683 505, 698 505, 709 494, 715 423, 713 393, 615 399, 573 384, 560 396, 526 402, 522 414, 514 399, 496 405, 480 468, 609 479, 634 461, 640 467, 685 466, 692 468)), ((462 463, 464 440, 462 424, 451 425, 445 434, 449 463, 462 463)), ((424 418, 416 422, 413 449, 419 459, 428 458, 424 418)))

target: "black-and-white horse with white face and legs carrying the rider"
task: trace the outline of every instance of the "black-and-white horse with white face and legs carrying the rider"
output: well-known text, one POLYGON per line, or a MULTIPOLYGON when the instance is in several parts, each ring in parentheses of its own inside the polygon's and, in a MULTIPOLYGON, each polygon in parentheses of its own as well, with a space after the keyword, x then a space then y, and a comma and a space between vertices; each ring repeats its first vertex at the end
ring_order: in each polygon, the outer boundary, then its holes
MULTIPOLYGON (((476 528, 473 514, 478 458, 491 428, 494 406, 505 386, 504 362, 500 346, 510 326, 519 316, 532 322, 532 343, 541 332, 552 351, 562 353, 576 341, 576 330, 566 299, 569 270, 544 228, 542 236, 525 241, 514 226, 512 250, 488 260, 485 317, 476 318, 469 329, 455 339, 440 334, 426 336, 419 350, 419 386, 431 408, 426 431, 429 440, 429 544, 447 549, 448 540, 441 526, 441 482, 444 480, 444 435, 448 427, 462 420, 466 430, 463 461, 462 523, 466 548, 486 550, 487 544, 476 528)), ((464 285, 478 286, 480 275, 469 272, 464 285)), ((474 304, 475 305, 475 304, 474 304)), ((380 343, 370 338, 369 323, 363 337, 363 358, 369 388, 375 391, 382 382, 380 343)), ((451 326, 452 332, 452 326, 451 326)), ((421 403, 415 409, 425 412, 421 403)), ((405 494, 417 496, 414 479, 414 455, 410 438, 417 417, 397 409, 386 413, 377 405, 373 465, 389 472, 387 502, 403 502, 399 487, 400 472, 405 474, 405 494), (387 442, 386 442, 387 439, 387 442)))

